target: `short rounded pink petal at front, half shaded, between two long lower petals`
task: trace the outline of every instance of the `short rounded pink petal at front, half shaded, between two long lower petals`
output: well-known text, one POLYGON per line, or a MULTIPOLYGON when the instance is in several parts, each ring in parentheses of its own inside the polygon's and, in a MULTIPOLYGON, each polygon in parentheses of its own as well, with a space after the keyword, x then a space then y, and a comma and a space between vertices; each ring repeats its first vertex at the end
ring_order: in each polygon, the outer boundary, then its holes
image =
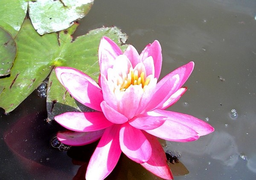
POLYGON ((122 124, 119 134, 122 152, 137 163, 145 163, 151 157, 151 145, 140 129, 122 124))

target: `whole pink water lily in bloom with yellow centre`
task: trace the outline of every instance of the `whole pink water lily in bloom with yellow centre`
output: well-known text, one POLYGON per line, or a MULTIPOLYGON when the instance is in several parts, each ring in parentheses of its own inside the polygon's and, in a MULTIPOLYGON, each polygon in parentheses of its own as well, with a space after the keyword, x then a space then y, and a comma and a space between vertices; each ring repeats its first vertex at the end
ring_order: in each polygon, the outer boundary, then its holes
POLYGON ((97 112, 69 112, 55 121, 69 130, 59 132, 64 144, 79 146, 100 138, 87 167, 87 180, 101 180, 123 152, 163 179, 173 179, 165 152, 156 137, 195 141, 214 131, 191 115, 166 111, 186 91, 182 87, 194 68, 189 62, 157 83, 162 66, 161 46, 154 41, 142 53, 129 45, 121 49, 108 37, 99 45, 99 83, 79 70, 55 68, 61 84, 79 102, 97 112))

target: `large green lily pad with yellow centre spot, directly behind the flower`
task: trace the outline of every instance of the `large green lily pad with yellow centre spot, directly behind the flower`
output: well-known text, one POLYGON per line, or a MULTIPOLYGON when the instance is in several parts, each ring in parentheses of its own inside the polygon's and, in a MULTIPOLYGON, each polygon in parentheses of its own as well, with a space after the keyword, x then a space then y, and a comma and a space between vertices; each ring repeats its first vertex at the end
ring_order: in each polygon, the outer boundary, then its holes
MULTIPOLYGON (((0 79, 0 107, 3 107, 6 113, 14 110, 29 96, 49 76, 55 66, 79 68, 96 78, 99 72, 96 63, 97 50, 101 37, 107 35, 118 42, 125 36, 118 28, 112 27, 97 29, 74 40, 71 34, 77 25, 76 23, 59 33, 40 36, 29 19, 23 22, 15 38, 18 52, 11 75, 0 79)), ((48 87, 53 87, 55 83, 58 83, 57 79, 52 80, 48 87)), ((62 93, 58 89, 49 89, 48 92, 55 97, 62 93)), ((63 96, 61 94, 61 98, 63 96)), ((47 101, 52 102, 55 97, 49 96, 47 101)))

